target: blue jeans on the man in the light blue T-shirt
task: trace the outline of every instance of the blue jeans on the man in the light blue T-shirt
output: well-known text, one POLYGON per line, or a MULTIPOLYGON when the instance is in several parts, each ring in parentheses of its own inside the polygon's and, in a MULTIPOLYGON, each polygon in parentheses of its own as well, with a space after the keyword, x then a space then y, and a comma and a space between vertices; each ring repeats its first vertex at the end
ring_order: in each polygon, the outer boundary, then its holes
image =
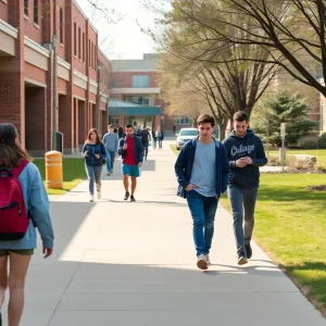
POLYGON ((193 241, 197 256, 208 254, 214 235, 214 220, 218 199, 204 197, 195 190, 187 192, 187 202, 193 220, 193 241))

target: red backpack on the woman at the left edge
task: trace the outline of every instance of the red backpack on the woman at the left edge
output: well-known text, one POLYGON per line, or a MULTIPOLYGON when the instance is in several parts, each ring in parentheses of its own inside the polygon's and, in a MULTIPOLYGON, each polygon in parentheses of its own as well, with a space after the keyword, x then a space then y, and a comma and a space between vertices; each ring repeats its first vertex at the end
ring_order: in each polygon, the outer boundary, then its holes
POLYGON ((27 163, 23 160, 21 165, 11 171, 0 171, 0 241, 22 239, 27 231, 29 217, 18 180, 27 163))

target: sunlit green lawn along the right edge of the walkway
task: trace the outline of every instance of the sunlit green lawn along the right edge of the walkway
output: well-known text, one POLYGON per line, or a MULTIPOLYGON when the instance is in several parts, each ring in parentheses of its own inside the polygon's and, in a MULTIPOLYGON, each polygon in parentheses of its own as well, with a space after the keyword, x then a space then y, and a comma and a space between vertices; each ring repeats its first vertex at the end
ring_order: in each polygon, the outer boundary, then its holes
MULTIPOLYGON (((253 238, 326 317, 326 192, 305 189, 321 184, 326 175, 262 174, 253 238)), ((230 212, 226 195, 221 203, 230 212)))

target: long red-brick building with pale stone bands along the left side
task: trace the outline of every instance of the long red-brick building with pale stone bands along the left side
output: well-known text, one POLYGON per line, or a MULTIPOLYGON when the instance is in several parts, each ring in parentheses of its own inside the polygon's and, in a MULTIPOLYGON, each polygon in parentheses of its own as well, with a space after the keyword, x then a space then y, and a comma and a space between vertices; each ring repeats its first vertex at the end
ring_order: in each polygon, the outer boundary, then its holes
POLYGON ((64 135, 64 151, 75 152, 97 126, 99 99, 102 125, 108 123, 110 62, 76 1, 0 0, 0 121, 15 124, 21 142, 34 154, 52 148, 53 34, 57 128, 64 135))

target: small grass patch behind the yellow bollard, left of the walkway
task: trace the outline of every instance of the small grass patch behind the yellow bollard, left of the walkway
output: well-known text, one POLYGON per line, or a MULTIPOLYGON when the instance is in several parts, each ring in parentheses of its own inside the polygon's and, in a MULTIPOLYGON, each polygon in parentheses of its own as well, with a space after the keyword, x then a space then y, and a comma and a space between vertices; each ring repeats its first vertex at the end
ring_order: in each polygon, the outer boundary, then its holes
MULTIPOLYGON (((43 159, 36 159, 34 164, 40 171, 40 174, 46 179, 46 166, 43 159)), ((63 195, 75 188, 83 179, 86 178, 86 172, 83 159, 63 159, 63 189, 47 189, 49 195, 63 195)))

